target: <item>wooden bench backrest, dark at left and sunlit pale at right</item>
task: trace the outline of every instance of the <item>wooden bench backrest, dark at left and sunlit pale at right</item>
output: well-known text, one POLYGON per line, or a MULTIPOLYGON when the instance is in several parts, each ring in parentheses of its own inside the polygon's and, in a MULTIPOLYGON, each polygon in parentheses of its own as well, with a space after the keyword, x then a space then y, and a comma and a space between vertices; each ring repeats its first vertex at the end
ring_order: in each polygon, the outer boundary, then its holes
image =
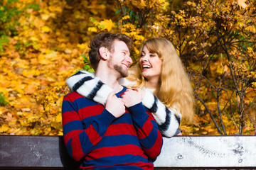
MULTIPOLYGON (((155 169, 256 169, 256 136, 164 138, 155 169)), ((77 169, 61 136, 0 136, 0 169, 77 169)))

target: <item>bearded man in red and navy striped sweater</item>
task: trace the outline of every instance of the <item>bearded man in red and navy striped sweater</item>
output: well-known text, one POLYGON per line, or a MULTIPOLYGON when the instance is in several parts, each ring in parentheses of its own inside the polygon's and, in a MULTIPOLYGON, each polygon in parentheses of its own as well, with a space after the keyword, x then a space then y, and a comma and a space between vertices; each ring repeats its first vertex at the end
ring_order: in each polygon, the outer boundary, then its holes
POLYGON ((161 133, 142 105, 142 91, 120 86, 117 80, 127 77, 132 64, 132 40, 123 34, 102 33, 92 38, 90 48, 95 77, 101 81, 88 98, 76 92, 63 98, 68 153, 82 160, 80 169, 154 169, 152 160, 161 151, 161 133), (105 107, 92 101, 102 83, 116 93, 110 93, 105 107))

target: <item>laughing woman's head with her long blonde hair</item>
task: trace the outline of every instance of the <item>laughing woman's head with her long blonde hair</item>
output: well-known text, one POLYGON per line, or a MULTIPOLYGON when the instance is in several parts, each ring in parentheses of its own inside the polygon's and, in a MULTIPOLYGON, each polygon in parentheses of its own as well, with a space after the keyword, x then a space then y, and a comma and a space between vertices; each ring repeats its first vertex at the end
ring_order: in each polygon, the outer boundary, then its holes
POLYGON ((136 80, 134 87, 151 89, 166 107, 174 108, 185 120, 192 121, 193 91, 174 45, 163 38, 151 38, 144 42, 140 54, 132 74, 136 80))

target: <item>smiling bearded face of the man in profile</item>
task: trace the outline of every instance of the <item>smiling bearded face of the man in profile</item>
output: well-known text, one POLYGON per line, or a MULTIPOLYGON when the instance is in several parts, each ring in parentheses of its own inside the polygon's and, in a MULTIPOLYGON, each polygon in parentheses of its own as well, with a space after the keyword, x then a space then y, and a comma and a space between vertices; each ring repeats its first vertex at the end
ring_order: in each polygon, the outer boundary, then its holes
POLYGON ((129 64, 132 64, 129 48, 125 42, 120 40, 114 40, 112 47, 109 66, 117 71, 121 77, 127 77, 129 64))

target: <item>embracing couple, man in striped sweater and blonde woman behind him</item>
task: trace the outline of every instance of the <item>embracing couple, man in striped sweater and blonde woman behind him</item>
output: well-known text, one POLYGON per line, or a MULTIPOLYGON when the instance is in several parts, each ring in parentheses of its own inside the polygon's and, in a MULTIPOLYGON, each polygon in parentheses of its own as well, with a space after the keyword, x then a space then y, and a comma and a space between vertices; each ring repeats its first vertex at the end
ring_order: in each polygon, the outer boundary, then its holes
POLYGON ((174 46, 161 38, 144 42, 127 79, 120 79, 132 64, 127 35, 102 33, 90 47, 95 75, 80 71, 70 77, 68 86, 76 92, 63 99, 70 156, 82 159, 81 169, 154 169, 161 134, 177 135, 181 114, 193 114, 191 86, 174 46), (127 82, 135 90, 120 85, 127 82))

